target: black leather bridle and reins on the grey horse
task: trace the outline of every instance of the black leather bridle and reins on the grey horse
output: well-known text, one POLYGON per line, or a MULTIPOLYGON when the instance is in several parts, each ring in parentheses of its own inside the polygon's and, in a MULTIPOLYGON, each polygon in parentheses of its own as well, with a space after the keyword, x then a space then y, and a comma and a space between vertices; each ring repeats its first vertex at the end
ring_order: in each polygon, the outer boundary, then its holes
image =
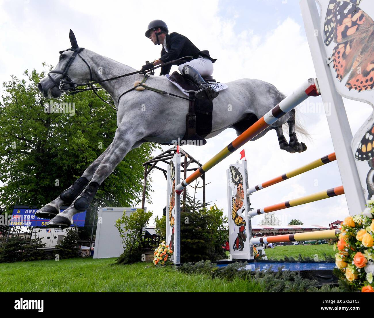
MULTIPOLYGON (((104 87, 95 87, 93 86, 93 84, 101 84, 103 82, 107 82, 107 81, 113 81, 114 79, 118 79, 118 78, 122 78, 122 77, 125 77, 125 76, 130 76, 130 75, 135 75, 135 74, 143 74, 143 75, 146 75, 147 73, 151 73, 151 75, 154 74, 154 70, 157 69, 158 67, 161 67, 161 66, 165 66, 167 64, 170 64, 170 63, 174 63, 176 61, 180 61, 180 60, 187 60, 187 61, 190 61, 192 60, 192 56, 188 56, 188 57, 181 57, 181 58, 178 58, 176 60, 173 60, 173 61, 169 61, 169 62, 166 62, 166 63, 163 63, 163 64, 160 64, 160 65, 157 65, 147 71, 136 71, 136 72, 132 72, 132 73, 127 73, 127 74, 124 74, 124 75, 119 75, 119 76, 115 76, 115 77, 112 77, 112 78, 108 78, 108 79, 103 79, 101 81, 96 81, 96 82, 92 82, 92 71, 91 71, 91 67, 89 66, 89 64, 87 63, 87 61, 82 57, 82 55, 80 55, 79 53, 82 52, 85 48, 80 48, 80 47, 76 47, 76 48, 69 48, 69 49, 66 49, 65 51, 73 51, 73 54, 70 55, 70 58, 69 60, 67 61, 67 63, 65 64, 65 67, 62 71, 59 71, 59 70, 52 70, 48 73, 48 77, 52 80, 53 84, 55 85, 55 87, 57 87, 60 91, 64 91, 65 93, 67 94, 70 94, 70 95, 74 95, 74 94, 77 94, 77 93, 80 93, 80 92, 83 92, 83 91, 93 91, 93 93, 96 94, 97 97, 99 97, 99 99, 101 99, 103 102, 107 103, 110 107, 112 107, 114 110, 117 110, 117 108, 113 107, 110 103, 108 103, 106 100, 102 99, 98 93, 96 93, 96 90, 100 90, 100 89, 104 89, 104 87), (81 60, 83 62, 85 62, 85 64, 87 65, 89 71, 90 71, 90 81, 89 82, 86 82, 86 83, 82 83, 82 84, 77 84, 75 82, 73 82, 71 80, 71 78, 69 77, 68 75, 68 70, 71 66, 71 64, 73 63, 74 59, 76 58, 76 56, 79 56, 81 58, 81 60), (56 74, 61 74, 61 79, 60 79, 60 82, 59 84, 52 78, 52 76, 50 76, 50 73, 56 73, 56 74), (67 87, 67 84, 69 85, 69 87, 67 87), (82 86, 88 86, 89 88, 77 88, 77 87, 82 87, 82 86)), ((59 53, 62 54, 63 52, 65 51, 60 51, 59 53)), ((148 76, 148 75, 147 75, 148 76)), ((129 91, 132 91, 132 90, 135 90, 136 87, 133 87, 131 88, 130 90, 127 90, 125 91, 125 93, 123 93, 119 99, 125 95, 126 93, 128 93, 129 91)), ((118 103, 119 103, 119 99, 118 99, 118 103)))

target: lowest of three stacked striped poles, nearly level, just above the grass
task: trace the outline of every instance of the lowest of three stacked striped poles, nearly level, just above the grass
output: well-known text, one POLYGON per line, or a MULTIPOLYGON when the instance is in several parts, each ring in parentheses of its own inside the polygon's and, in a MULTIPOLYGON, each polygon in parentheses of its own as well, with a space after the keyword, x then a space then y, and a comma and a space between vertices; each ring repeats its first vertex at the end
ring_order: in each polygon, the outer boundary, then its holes
POLYGON ((339 230, 326 230, 326 231, 314 231, 306 233, 295 233, 275 236, 264 236, 264 237, 253 237, 251 244, 269 244, 269 243, 282 243, 282 242, 295 242, 295 241, 306 241, 306 240, 328 240, 335 239, 339 230))

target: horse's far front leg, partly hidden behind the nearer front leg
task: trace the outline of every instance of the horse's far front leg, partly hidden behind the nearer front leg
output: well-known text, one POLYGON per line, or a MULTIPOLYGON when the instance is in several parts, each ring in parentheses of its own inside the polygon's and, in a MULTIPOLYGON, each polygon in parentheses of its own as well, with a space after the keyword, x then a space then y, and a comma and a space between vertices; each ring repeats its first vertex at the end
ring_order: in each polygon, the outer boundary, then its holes
POLYGON ((70 206, 71 203, 73 203, 74 199, 79 196, 86 185, 88 185, 88 182, 92 179, 92 176, 95 173, 97 167, 107 155, 110 146, 111 145, 109 145, 108 148, 105 149, 105 151, 101 155, 99 155, 99 157, 95 161, 93 161, 93 163, 89 165, 83 175, 79 179, 77 179, 77 181, 74 182, 73 185, 62 191, 62 193, 55 200, 39 209, 38 212, 35 213, 35 215, 38 218, 51 219, 60 212, 60 206, 70 206))

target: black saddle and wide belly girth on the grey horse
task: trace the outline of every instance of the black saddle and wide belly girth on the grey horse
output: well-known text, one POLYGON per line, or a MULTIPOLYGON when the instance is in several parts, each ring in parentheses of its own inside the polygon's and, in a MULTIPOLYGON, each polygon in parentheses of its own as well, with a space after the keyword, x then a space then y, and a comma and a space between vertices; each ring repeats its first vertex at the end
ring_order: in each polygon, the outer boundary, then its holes
MULTIPOLYGON (((182 140, 187 144, 205 145, 206 137, 212 131, 213 101, 196 99, 195 92, 200 88, 188 78, 178 72, 166 78, 190 98, 188 113, 186 115, 186 132, 182 140)), ((204 78, 209 84, 217 83, 212 76, 204 78)))

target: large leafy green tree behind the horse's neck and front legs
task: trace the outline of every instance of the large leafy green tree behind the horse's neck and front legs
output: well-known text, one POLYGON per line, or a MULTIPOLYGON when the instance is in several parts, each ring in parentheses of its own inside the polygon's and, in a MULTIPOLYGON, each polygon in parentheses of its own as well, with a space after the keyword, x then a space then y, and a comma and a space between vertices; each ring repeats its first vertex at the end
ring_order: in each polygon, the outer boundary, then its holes
MULTIPOLYGON (((43 63, 43 66, 46 64, 43 63)), ((47 66, 50 67, 50 66, 47 66)), ((51 67, 50 67, 51 68, 51 67)), ((113 140, 116 112, 91 91, 63 94, 52 102, 74 103, 74 114, 45 112, 37 83, 46 72, 26 70, 24 78, 4 82, 0 103, 0 205, 43 206, 70 187, 113 140)), ((100 96, 110 100, 102 90, 100 96)), ((70 106, 73 106, 71 104, 70 106)), ((154 143, 144 143, 126 155, 105 179, 93 204, 131 206, 140 201, 144 168, 154 143)), ((149 180, 151 182, 151 179, 149 180)), ((147 200, 150 201, 148 189, 147 200)))

